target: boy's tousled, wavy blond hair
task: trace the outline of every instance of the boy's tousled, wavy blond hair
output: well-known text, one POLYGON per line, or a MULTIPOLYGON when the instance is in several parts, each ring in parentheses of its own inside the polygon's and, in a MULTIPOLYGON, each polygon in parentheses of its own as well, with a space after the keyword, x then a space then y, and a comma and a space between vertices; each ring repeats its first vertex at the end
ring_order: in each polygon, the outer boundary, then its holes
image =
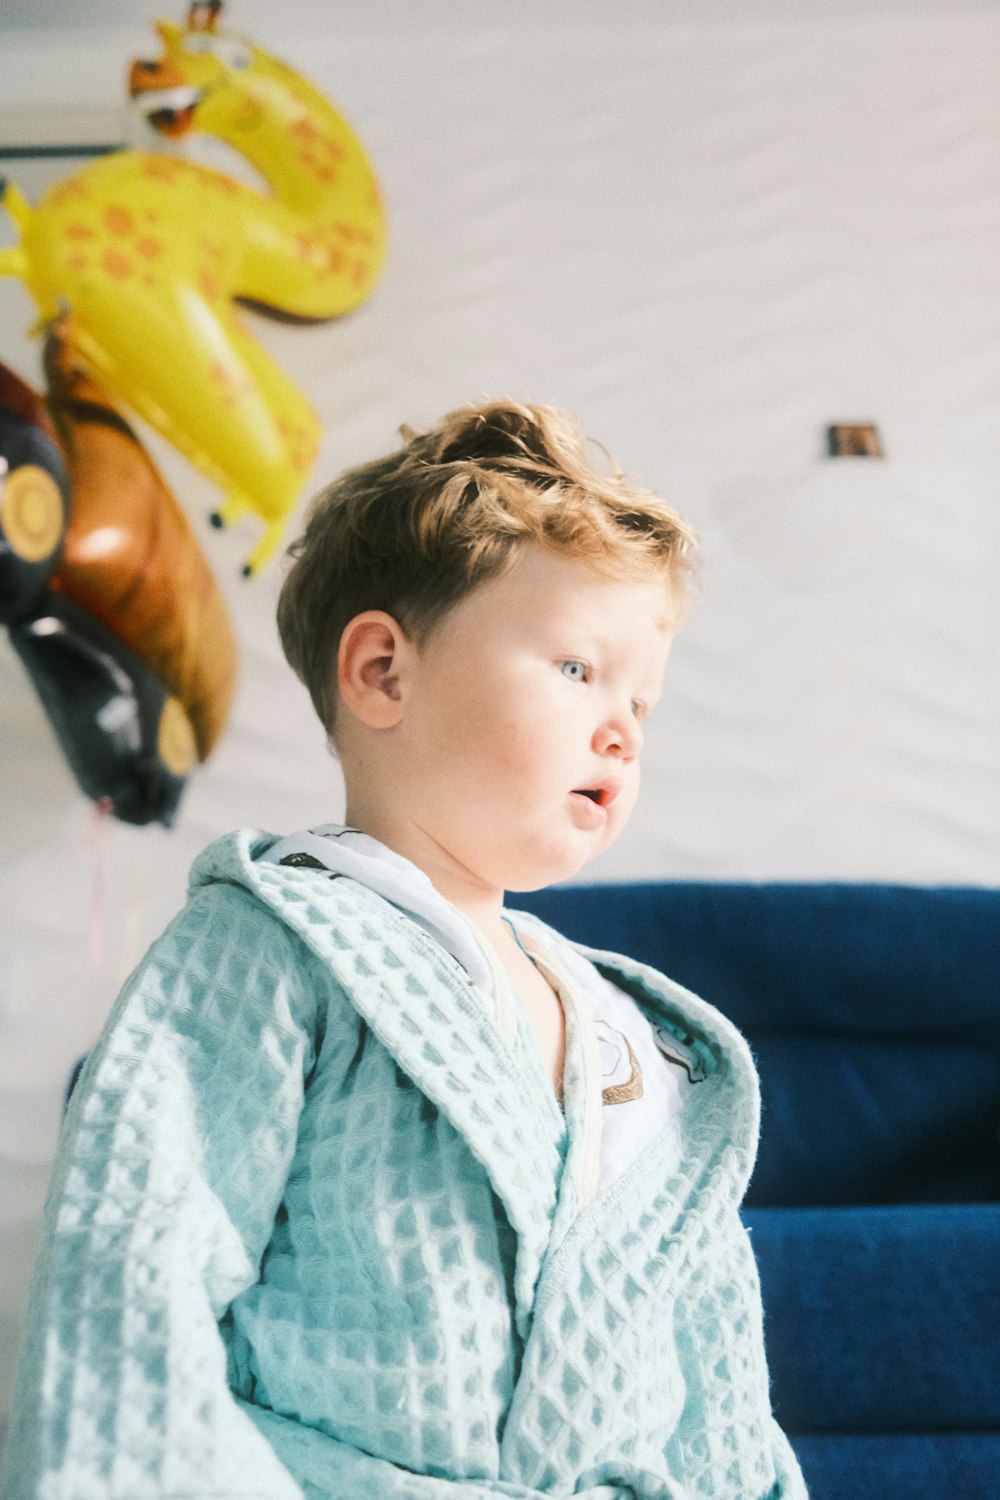
POLYGON ((288 549, 277 627, 328 734, 349 620, 382 609, 420 645, 531 542, 607 578, 661 574, 682 606, 693 531, 616 465, 598 472, 565 412, 495 400, 460 406, 430 432, 400 432, 402 448, 321 490, 288 549))

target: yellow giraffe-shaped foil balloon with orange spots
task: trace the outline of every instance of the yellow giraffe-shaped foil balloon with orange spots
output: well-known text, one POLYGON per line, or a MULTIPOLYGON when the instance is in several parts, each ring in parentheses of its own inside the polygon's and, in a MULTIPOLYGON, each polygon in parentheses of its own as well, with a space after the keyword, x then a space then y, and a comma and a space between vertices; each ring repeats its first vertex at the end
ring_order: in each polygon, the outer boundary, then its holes
POLYGON ((0 252, 0 274, 19 276, 42 326, 72 328, 94 381, 220 486, 216 524, 256 512, 252 573, 280 542, 319 423, 237 304, 307 321, 357 306, 382 266, 385 219, 351 128, 292 69, 217 30, 217 9, 192 6, 186 28, 157 22, 163 52, 132 64, 130 93, 165 135, 228 142, 270 194, 130 150, 63 178, 36 207, 7 184, 19 244, 0 252))

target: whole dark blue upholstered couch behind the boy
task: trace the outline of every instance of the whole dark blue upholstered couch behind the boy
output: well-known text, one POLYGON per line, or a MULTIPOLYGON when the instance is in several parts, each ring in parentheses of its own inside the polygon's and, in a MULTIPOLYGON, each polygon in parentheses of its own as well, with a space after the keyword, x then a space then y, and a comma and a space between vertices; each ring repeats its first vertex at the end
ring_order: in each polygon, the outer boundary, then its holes
POLYGON ((517 897, 711 999, 756 1053, 745 1220, 813 1500, 1000 1500, 1000 890, 517 897))

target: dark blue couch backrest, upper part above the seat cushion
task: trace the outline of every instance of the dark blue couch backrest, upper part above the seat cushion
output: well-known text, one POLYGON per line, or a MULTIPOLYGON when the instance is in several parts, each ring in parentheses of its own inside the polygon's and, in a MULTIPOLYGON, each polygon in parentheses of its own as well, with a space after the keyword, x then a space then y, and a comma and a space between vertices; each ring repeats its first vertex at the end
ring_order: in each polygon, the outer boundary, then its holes
POLYGON ((748 1203, 1000 1198, 1000 890, 663 882, 510 904, 747 1035, 765 1104, 748 1203))

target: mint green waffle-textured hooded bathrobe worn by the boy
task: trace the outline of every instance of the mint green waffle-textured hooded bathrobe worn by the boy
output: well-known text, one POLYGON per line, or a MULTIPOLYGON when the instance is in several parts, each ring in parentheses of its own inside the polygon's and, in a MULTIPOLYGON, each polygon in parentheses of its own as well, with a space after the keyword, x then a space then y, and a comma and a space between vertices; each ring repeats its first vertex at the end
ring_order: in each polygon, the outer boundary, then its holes
POLYGON ((345 878, 219 840, 69 1107, 4 1500, 801 1500, 717 1011, 589 957, 708 1074, 589 1203, 522 1017, 345 878))

